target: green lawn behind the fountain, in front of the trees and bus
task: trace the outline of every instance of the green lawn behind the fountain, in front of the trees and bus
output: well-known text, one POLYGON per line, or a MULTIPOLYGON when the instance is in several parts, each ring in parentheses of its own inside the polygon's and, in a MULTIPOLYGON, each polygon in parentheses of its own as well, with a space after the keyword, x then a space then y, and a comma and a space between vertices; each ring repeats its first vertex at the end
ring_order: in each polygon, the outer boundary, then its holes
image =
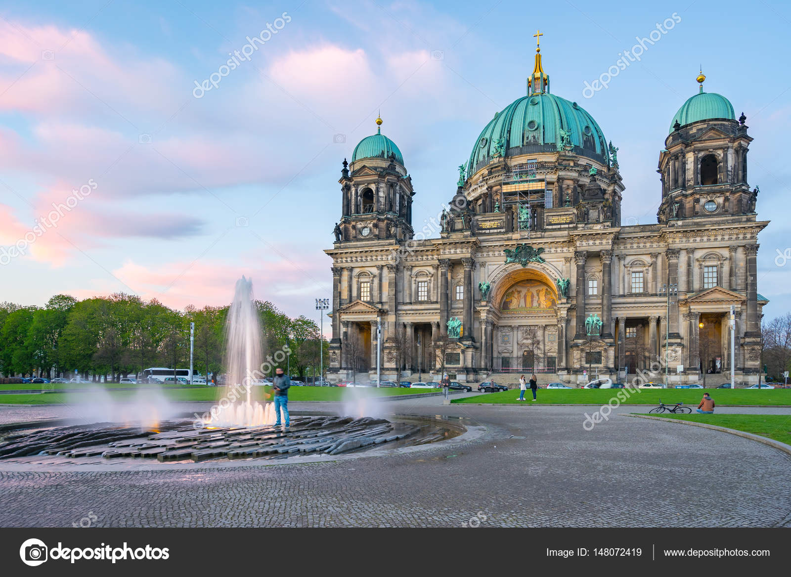
MULTIPOLYGON (((165 397, 170 400, 218 400, 223 394, 223 387, 202 387, 200 389, 165 389, 165 397)), ((271 393, 271 387, 256 387, 254 389, 256 399, 263 398, 263 395, 271 393)), ((356 395, 365 397, 389 397, 392 395, 408 395, 416 393, 430 393, 426 389, 395 389, 383 387, 377 389, 360 388, 346 389, 344 387, 292 387, 289 390, 289 400, 347 400, 355 398, 356 395)), ((436 392, 436 391, 433 391, 436 392)), ((115 400, 124 400, 134 397, 136 391, 115 391, 111 396, 115 400)), ((25 395, 0 395, 0 404, 55 404, 55 403, 75 403, 89 399, 91 393, 46 393, 46 394, 25 394, 25 395)))

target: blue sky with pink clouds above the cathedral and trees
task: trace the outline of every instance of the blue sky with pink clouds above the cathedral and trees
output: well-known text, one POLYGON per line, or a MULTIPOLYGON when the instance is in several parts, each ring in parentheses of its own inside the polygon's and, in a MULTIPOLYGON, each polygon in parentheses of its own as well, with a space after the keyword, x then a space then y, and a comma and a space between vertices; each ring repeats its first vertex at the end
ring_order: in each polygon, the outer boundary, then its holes
POLYGON ((246 275, 257 298, 317 318, 341 163, 377 113, 419 230, 482 128, 524 95, 540 28, 551 92, 619 147, 624 224, 656 222, 659 152, 701 66, 706 91, 744 111, 748 180, 772 221, 759 292, 767 318, 784 314, 789 25, 789 4, 761 0, 0 2, 0 301, 223 306, 246 275), (666 21, 639 62, 585 91, 666 21))

